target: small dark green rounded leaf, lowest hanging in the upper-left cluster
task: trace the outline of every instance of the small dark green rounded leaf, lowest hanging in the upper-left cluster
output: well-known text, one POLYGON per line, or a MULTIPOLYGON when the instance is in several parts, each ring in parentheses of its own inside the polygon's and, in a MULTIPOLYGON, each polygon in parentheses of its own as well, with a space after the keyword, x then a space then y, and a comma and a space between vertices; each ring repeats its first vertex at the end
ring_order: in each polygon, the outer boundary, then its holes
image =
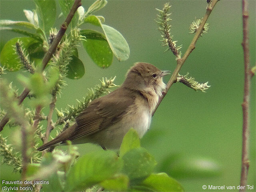
POLYGON ((67 66, 67 78, 80 79, 82 76, 84 76, 84 64, 78 57, 74 55, 71 58, 72 60, 69 62, 67 66))

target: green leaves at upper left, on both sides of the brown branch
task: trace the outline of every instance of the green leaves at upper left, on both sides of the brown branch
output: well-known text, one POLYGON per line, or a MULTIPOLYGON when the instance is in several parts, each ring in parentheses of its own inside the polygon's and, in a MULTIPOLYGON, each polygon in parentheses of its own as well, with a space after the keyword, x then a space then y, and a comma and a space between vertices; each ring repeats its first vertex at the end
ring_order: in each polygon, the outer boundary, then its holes
MULTIPOLYGON (((55 22, 56 2, 42 0, 34 0, 34 2, 36 4, 35 10, 24 10, 28 22, 0 20, 0 30, 11 30, 30 37, 14 38, 4 46, 1 52, 1 64, 6 66, 9 71, 17 71, 21 68, 20 61, 12 48, 18 40, 23 42, 24 51, 28 53, 31 62, 35 62, 36 65, 42 63, 42 58, 50 47, 46 35, 49 34, 50 28, 53 28, 55 22), (19 29, 18 27, 25 27, 25 29, 19 29)), ((64 16, 68 15, 73 3, 74 0, 58 1, 64 16)), ((84 12, 84 8, 80 6, 71 23, 71 29, 78 28, 86 22, 102 28, 104 34, 88 29, 81 30, 81 34, 88 38, 86 42, 83 42, 85 50, 92 60, 102 68, 107 68, 112 64, 113 54, 119 61, 127 60, 130 55, 129 46, 122 34, 116 29, 102 24, 105 20, 104 17, 92 15, 103 8, 106 3, 106 0, 97 0, 88 8, 87 12, 84 12)), ((62 50, 61 45, 59 46, 60 51, 62 50)), ((67 55, 71 52, 72 50, 67 52, 67 55)), ((66 77, 79 79, 84 75, 84 64, 78 56, 70 56, 65 71, 66 77)))

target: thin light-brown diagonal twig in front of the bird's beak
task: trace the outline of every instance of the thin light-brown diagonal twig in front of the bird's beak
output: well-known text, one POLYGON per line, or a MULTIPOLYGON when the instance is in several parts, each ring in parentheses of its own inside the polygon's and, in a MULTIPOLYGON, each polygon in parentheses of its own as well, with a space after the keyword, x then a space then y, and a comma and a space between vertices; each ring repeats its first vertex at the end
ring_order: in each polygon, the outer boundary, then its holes
POLYGON ((185 54, 182 58, 177 59, 177 66, 176 66, 174 72, 172 73, 172 76, 171 76, 170 80, 168 81, 168 83, 166 85, 166 90, 162 92, 162 97, 159 98, 158 104, 157 104, 154 112, 152 113, 152 116, 156 112, 156 109, 158 108, 158 106, 162 102, 163 98, 166 96, 166 94, 167 94, 168 90, 170 89, 170 87, 172 86, 172 84, 177 82, 177 76, 178 76, 178 73, 180 71, 180 68, 182 67, 182 65, 184 64, 184 62, 186 61, 186 59, 188 58, 190 53, 196 48, 195 45, 196 45, 196 42, 197 42, 198 38, 200 37, 200 34, 202 33, 202 30, 204 28, 204 24, 206 23, 208 17, 210 16, 214 6, 216 5, 216 3, 218 1, 219 0, 212 0, 212 3, 207 6, 206 13, 205 13, 205 15, 202 19, 202 22, 201 22, 198 30, 196 30, 196 33, 194 35, 193 40, 191 41, 190 45, 188 46, 188 49, 186 50, 186 52, 185 52, 185 54))

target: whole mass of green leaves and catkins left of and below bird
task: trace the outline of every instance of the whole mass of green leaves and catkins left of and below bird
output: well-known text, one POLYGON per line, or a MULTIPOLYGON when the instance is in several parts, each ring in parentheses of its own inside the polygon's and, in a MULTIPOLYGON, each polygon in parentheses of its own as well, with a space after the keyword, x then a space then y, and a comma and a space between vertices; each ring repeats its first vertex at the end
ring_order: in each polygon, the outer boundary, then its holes
MULTIPOLYGON (((27 36, 8 41, 2 49, 0 60, 9 71, 19 70, 22 66, 26 66, 25 68, 30 71, 27 76, 19 74, 18 80, 30 90, 33 96, 30 102, 32 109, 24 110, 23 106, 18 103, 17 94, 8 88, 6 82, 1 83, 1 96, 6 102, 3 104, 4 108, 10 117, 15 117, 15 123, 21 125, 25 130, 23 133, 28 136, 25 142, 29 150, 25 151, 24 155, 31 163, 28 163, 26 169, 26 179, 39 178, 48 181, 48 183, 42 183, 42 191, 86 190, 94 185, 112 191, 133 191, 138 188, 154 191, 182 191, 180 184, 167 174, 153 174, 156 160, 140 146, 139 136, 133 129, 124 137, 120 147, 120 156, 115 151, 102 150, 78 158, 76 148, 69 146, 67 152, 55 149, 52 153, 44 154, 42 159, 38 158, 40 153, 36 151, 38 138, 48 139, 45 137, 47 133, 42 133, 44 124, 40 121, 48 120, 48 133, 57 125, 67 126, 91 100, 110 92, 109 88, 116 86, 114 78, 102 79, 101 84, 89 90, 86 98, 78 100, 76 106, 69 106, 64 110, 56 109, 57 120, 53 122, 52 113, 55 108, 56 95, 61 94, 61 89, 66 85, 65 78, 78 79, 85 73, 84 64, 76 48, 78 44, 83 42, 84 49, 90 58, 102 68, 107 68, 112 64, 113 55, 119 61, 127 60, 130 49, 120 32, 103 24, 105 21, 103 16, 93 15, 107 3, 106 0, 96 0, 87 12, 83 7, 78 9, 78 13, 72 19, 68 34, 63 36, 53 53, 49 62, 50 67, 42 72, 42 58, 56 38, 56 32, 53 29, 56 2, 42 0, 34 0, 34 2, 35 10, 24 10, 28 22, 0 21, 0 30, 12 30, 27 36), (84 23, 100 27, 103 34, 95 30, 83 29, 84 23), (19 27, 23 28, 19 29, 19 27), (13 46, 21 41, 22 48, 16 48, 15 51, 13 46), (35 67, 32 65, 34 63, 35 67), (47 104, 50 104, 50 112, 46 118, 40 110, 47 104), (34 140, 32 141, 31 138, 34 140)), ((59 1, 58 5, 64 16, 68 15, 73 2, 73 0, 59 1)), ((4 68, 1 67, 1 71, 3 74, 4 68)), ((0 152, 6 156, 4 162, 14 166, 16 170, 21 170, 22 159, 19 154, 12 153, 12 147, 7 145, 6 139, 2 136, 1 145, 0 152)))

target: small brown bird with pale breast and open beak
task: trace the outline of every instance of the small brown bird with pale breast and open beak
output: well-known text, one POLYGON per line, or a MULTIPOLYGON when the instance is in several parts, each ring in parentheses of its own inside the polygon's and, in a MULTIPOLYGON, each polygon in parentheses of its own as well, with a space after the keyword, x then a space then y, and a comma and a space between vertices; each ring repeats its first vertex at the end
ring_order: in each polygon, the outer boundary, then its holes
POLYGON ((162 91, 166 89, 162 71, 146 62, 136 62, 126 73, 124 83, 113 92, 92 100, 75 118, 75 123, 37 150, 65 144, 95 143, 103 149, 118 149, 124 135, 134 128, 139 137, 150 127, 162 91))

